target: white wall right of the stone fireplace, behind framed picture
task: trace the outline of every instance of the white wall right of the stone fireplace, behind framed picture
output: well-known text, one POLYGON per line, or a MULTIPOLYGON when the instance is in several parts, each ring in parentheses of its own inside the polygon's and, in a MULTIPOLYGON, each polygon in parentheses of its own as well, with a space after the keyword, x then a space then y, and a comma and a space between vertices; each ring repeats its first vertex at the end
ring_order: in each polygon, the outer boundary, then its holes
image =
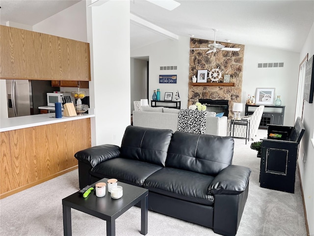
MULTIPOLYGON (((245 45, 242 103, 247 95, 256 95, 256 88, 275 88, 285 105, 284 125, 293 126, 298 87, 299 53, 245 45), (259 62, 284 62, 284 67, 257 68, 259 62)), ((274 99, 275 102, 275 99, 274 99)))

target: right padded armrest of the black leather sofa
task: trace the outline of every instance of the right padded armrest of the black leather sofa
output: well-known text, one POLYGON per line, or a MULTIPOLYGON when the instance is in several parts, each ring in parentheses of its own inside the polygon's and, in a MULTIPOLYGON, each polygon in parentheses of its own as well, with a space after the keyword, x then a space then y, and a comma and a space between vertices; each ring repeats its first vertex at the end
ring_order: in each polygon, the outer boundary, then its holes
POLYGON ((247 167, 230 165, 211 181, 208 194, 240 194, 248 185, 250 174, 247 167))

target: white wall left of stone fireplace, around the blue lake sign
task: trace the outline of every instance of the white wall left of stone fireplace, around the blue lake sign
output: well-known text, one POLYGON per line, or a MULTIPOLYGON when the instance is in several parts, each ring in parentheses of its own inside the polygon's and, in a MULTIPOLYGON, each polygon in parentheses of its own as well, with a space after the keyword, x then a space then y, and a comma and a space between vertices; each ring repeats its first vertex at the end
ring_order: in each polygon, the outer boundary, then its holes
POLYGON ((152 100, 154 89, 160 89, 160 99, 165 92, 179 90, 181 108, 187 108, 188 70, 189 70, 189 37, 180 37, 179 40, 165 39, 131 51, 131 57, 149 56, 149 97, 152 100), (160 66, 176 65, 177 70, 160 70, 160 66), (177 84, 159 84, 159 75, 177 75, 177 84))

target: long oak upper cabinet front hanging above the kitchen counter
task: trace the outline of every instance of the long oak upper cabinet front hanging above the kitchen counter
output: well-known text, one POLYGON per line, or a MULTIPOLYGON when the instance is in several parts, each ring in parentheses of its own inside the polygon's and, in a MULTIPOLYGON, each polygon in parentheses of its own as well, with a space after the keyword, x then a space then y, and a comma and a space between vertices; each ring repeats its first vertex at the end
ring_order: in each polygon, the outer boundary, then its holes
POLYGON ((0 26, 0 79, 90 81, 89 44, 0 26))

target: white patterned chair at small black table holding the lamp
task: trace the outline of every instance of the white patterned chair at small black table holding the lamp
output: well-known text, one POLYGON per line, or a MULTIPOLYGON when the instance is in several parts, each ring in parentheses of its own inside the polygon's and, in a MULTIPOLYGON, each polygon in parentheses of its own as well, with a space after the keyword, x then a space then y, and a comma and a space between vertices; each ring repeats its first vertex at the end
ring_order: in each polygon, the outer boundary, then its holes
MULTIPOLYGON (((249 139, 254 140, 254 137, 256 136, 256 133, 259 129, 260 123, 261 123, 261 118, 262 114, 264 111, 264 106, 259 106, 252 115, 250 116, 245 116, 241 118, 250 118, 250 137, 249 139)), ((230 119, 228 119, 228 133, 230 133, 230 119)), ((235 136, 237 138, 245 138, 246 137, 246 126, 244 125, 235 125, 235 136)), ((232 130, 233 132, 233 130, 232 130)))

